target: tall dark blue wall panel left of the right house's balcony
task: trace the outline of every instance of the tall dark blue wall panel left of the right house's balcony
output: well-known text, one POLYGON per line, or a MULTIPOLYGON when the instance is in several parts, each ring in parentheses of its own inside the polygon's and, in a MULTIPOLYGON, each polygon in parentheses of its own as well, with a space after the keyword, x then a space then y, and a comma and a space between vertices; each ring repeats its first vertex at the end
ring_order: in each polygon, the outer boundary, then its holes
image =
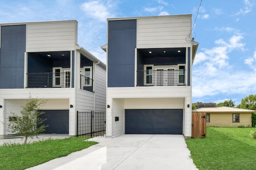
POLYGON ((134 87, 136 20, 108 21, 108 87, 134 87))

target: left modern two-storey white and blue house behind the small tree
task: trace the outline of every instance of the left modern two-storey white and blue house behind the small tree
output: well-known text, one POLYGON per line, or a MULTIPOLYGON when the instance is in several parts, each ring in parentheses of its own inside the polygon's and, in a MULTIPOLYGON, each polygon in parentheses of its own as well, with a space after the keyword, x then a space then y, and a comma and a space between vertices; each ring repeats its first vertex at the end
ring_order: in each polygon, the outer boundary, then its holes
POLYGON ((0 137, 30 94, 46 100, 46 133, 76 135, 77 111, 106 110, 106 65, 78 45, 77 29, 76 20, 0 24, 0 137))

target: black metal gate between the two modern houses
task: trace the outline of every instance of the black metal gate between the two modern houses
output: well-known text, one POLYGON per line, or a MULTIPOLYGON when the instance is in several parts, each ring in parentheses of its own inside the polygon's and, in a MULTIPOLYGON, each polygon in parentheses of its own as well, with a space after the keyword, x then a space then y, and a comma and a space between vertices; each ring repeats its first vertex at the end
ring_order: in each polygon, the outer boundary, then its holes
POLYGON ((77 136, 96 137, 106 134, 105 111, 77 111, 77 136))

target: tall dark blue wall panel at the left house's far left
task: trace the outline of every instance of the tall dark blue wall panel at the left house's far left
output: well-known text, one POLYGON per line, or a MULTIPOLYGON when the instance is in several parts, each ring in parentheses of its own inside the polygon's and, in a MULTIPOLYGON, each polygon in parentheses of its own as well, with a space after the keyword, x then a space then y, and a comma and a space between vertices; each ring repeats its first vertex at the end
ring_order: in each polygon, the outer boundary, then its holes
POLYGON ((0 88, 24 88, 26 25, 1 26, 0 88))

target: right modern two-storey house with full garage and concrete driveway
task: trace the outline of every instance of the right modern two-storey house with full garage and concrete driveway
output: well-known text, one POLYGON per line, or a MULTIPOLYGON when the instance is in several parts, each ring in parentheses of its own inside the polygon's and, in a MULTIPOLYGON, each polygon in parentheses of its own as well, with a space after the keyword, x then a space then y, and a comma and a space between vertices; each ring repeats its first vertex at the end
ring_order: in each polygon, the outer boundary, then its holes
POLYGON ((191 29, 191 14, 107 19, 107 137, 191 137, 191 29))

